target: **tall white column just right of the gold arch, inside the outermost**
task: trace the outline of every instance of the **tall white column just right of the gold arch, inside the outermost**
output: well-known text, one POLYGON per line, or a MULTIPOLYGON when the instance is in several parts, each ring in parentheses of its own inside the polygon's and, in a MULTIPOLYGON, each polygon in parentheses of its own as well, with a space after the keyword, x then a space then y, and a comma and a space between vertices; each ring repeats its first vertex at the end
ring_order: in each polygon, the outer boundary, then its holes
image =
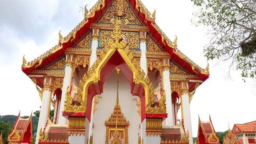
POLYGON ((171 90, 171 82, 170 82, 170 60, 163 59, 163 84, 164 84, 164 92, 166 98, 166 113, 168 117, 162 122, 163 127, 170 127, 174 125, 173 122, 173 111, 172 111, 172 90, 171 90))

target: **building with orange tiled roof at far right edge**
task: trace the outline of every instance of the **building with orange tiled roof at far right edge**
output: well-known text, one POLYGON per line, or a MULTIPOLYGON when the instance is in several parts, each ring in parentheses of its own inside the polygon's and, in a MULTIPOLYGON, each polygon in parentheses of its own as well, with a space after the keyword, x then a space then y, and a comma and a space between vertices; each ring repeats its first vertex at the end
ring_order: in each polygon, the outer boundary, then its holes
POLYGON ((245 124, 234 124, 232 133, 236 136, 240 144, 255 144, 256 121, 245 124))

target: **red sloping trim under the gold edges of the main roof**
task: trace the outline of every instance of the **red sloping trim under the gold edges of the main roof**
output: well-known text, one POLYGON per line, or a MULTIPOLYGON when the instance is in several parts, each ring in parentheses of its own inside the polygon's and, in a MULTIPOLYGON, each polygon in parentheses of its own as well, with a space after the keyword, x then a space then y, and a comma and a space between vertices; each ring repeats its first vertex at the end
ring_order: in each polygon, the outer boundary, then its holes
MULTIPOLYGON (((49 63, 51 63, 54 60, 57 60, 60 56, 63 56, 66 49, 67 48, 71 48, 72 46, 74 46, 74 44, 76 44, 81 37, 83 37, 88 31, 90 31, 90 25, 92 23, 95 23, 96 20, 98 20, 101 15, 103 14, 102 12, 104 12, 109 4, 111 3, 112 0, 105 0, 105 7, 102 8, 99 11, 95 12, 95 16, 92 18, 88 18, 88 23, 84 24, 83 27, 81 27, 78 32, 76 33, 76 37, 73 41, 71 41, 71 39, 63 44, 62 49, 60 49, 59 51, 53 53, 52 55, 48 56, 47 58, 45 58, 42 63, 40 64, 40 66, 38 66, 37 68, 35 68, 35 66, 31 67, 31 68, 22 68, 22 71, 28 75, 30 72, 32 72, 33 70, 36 69, 40 69, 40 68, 44 68, 46 65, 48 65, 49 63)), ((152 35, 152 37, 157 40, 157 42, 164 48, 164 50, 166 52, 168 52, 170 54, 170 58, 179 65, 184 65, 184 69, 186 69, 189 73, 191 74, 195 74, 197 76, 200 77, 200 80, 207 80, 209 77, 209 74, 202 74, 200 72, 195 73, 192 69, 192 66, 190 64, 188 64, 185 60, 183 60, 182 58, 180 58, 178 55, 176 55, 173 50, 174 48, 169 47, 168 44, 164 44, 162 42, 162 37, 161 34, 159 32, 157 32, 157 30, 152 26, 152 23, 155 23, 154 21, 149 21, 145 19, 145 14, 141 13, 137 8, 136 8, 136 0, 128 0, 128 3, 130 3, 132 5, 132 7, 134 8, 134 12, 137 14, 137 16, 139 17, 139 19, 144 22, 144 24, 146 26, 148 26, 149 28, 149 34, 152 35)))

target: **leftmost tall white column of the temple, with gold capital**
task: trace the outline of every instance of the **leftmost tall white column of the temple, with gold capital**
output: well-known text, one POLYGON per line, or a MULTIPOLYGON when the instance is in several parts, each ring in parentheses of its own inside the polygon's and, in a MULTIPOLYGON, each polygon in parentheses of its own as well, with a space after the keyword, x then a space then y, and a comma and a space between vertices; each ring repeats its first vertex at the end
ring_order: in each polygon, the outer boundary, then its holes
POLYGON ((44 91, 43 91, 43 97, 42 97, 42 104, 40 108, 40 116, 38 120, 38 125, 37 125, 37 132, 36 132, 36 144, 38 144, 39 140, 39 132, 40 129, 44 129, 44 125, 48 119, 48 112, 49 112, 49 104, 50 104, 50 99, 52 98, 51 96, 51 87, 52 87, 52 77, 44 77, 44 91))

